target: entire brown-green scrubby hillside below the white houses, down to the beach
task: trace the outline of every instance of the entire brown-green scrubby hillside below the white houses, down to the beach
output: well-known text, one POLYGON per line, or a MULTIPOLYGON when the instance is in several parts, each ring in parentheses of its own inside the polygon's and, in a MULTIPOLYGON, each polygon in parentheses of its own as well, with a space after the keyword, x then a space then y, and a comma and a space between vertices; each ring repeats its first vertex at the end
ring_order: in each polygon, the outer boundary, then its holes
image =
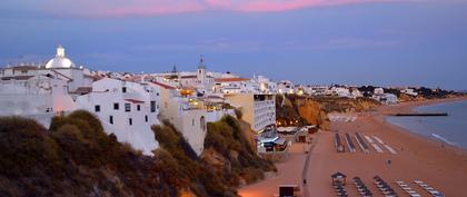
POLYGON ((237 196, 271 162, 252 151, 239 121, 210 124, 198 157, 173 126, 155 126, 161 148, 141 155, 107 135, 87 111, 54 117, 50 129, 31 119, 0 117, 0 196, 237 196))

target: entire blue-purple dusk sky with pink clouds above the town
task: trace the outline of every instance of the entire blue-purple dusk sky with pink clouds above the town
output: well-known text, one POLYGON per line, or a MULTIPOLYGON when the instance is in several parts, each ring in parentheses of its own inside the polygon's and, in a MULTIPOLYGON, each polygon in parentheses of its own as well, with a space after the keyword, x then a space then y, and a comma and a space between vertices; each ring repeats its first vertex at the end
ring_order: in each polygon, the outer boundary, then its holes
POLYGON ((1 0, 0 67, 467 89, 467 0, 1 0))

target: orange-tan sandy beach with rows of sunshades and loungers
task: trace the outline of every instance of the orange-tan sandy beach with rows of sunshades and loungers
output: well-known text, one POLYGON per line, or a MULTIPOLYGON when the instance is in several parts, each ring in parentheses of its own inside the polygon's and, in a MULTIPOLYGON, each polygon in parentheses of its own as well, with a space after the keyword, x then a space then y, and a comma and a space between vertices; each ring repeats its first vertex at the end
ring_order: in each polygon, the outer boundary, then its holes
MULTIPOLYGON (((314 136, 317 140, 310 155, 306 185, 301 184, 301 171, 306 158, 301 147, 304 145, 294 144, 290 159, 277 165, 278 176, 242 187, 239 194, 245 197, 271 197, 278 194, 278 185, 297 184, 304 187, 302 190, 307 189, 310 197, 336 196, 331 187, 330 175, 340 171, 347 175, 349 185, 346 186, 346 189, 349 196, 358 196, 351 184, 351 179, 356 176, 362 179, 374 196, 382 196, 372 184, 372 177, 376 175, 390 183, 399 196, 408 195, 395 184, 396 180, 410 183, 409 186, 421 196, 429 195, 421 187, 413 184, 414 180, 423 180, 446 196, 467 196, 467 189, 464 188, 467 183, 466 150, 443 145, 385 121, 388 114, 407 112, 416 106, 453 100, 457 99, 382 106, 372 111, 356 114, 358 118, 354 122, 332 122, 330 131, 320 131, 314 136), (377 152, 369 145, 369 152, 366 154, 358 147, 355 139, 356 152, 336 152, 335 132, 344 137, 346 132, 354 135, 357 131, 364 136, 376 136, 385 145, 395 149, 397 154, 389 152, 376 141, 375 144, 379 145, 384 151, 377 152)), ((366 142, 368 144, 368 141, 366 142)))

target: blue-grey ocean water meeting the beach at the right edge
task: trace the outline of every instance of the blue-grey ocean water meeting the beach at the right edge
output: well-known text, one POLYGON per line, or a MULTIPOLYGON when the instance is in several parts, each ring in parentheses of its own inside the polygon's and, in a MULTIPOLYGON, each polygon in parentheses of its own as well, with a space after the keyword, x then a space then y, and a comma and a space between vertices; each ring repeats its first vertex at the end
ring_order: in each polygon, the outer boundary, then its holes
POLYGON ((467 149, 467 101, 417 107, 418 112, 447 112, 447 117, 387 117, 411 132, 467 149))

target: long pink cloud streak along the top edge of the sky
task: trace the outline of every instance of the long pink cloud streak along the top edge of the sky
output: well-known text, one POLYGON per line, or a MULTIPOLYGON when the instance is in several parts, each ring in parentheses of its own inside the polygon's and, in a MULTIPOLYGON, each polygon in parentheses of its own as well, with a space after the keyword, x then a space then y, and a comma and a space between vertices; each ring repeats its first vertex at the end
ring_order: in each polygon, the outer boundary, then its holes
MULTIPOLYGON (((157 16, 207 10, 240 12, 289 11, 317 6, 417 0, 47 0, 46 11, 58 16, 157 16)), ((418 0, 420 1, 420 0, 418 0)))

